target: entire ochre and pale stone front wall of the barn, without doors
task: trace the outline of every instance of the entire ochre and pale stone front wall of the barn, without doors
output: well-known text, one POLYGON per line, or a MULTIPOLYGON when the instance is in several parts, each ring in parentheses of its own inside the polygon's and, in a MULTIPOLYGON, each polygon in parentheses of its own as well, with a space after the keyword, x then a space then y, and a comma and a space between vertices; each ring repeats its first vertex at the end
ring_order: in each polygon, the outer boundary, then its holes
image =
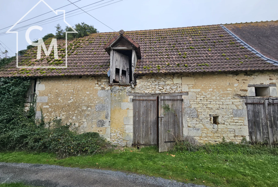
MULTIPOLYGON (((61 118, 82 132, 99 132, 112 144, 131 146, 132 96, 126 93, 179 93, 183 97, 183 134, 201 143, 248 140, 245 99, 248 84, 276 84, 276 72, 158 74, 137 77, 135 88, 109 86, 106 76, 46 77, 36 84, 37 115, 61 118), (41 114, 41 109, 43 114, 41 114), (213 118, 216 123, 213 124, 213 118)), ((274 90, 274 91, 273 91, 274 90)), ((277 88, 272 94, 277 95, 277 88)), ((276 96, 275 95, 275 96, 276 96)))

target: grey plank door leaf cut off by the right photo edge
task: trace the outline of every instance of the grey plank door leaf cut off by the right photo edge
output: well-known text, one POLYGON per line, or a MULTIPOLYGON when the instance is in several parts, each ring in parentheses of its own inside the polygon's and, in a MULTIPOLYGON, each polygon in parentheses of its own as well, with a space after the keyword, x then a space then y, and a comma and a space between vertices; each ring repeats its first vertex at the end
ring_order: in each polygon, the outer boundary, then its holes
POLYGON ((266 100, 270 144, 278 142, 278 100, 266 100))

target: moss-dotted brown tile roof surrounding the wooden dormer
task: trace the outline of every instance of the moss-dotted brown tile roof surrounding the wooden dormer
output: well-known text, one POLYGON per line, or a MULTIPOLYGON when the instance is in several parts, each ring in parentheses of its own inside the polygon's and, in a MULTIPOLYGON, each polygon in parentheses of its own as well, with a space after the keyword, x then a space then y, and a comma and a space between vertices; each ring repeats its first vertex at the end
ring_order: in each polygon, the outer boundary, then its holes
MULTIPOLYGON (((136 63, 135 74, 278 70, 278 66, 243 47, 221 25, 126 31, 125 34, 140 46, 142 59, 136 63)), ((115 32, 93 33, 68 41, 66 69, 16 68, 14 61, 0 68, 0 77, 106 75, 110 56, 103 47, 117 38, 116 35, 115 32)), ((50 42, 51 39, 45 42, 47 48, 50 42)), ((65 41, 57 42, 59 60, 53 61, 44 53, 37 60, 35 47, 19 56, 19 65, 65 65, 65 41)))

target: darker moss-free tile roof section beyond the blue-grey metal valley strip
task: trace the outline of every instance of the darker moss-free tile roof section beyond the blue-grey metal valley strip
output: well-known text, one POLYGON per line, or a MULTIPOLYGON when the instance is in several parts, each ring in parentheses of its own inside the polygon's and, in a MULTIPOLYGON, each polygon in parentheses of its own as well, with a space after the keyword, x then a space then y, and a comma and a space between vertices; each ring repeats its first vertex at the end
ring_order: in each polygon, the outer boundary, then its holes
POLYGON ((278 61, 278 21, 224 26, 265 57, 278 61))

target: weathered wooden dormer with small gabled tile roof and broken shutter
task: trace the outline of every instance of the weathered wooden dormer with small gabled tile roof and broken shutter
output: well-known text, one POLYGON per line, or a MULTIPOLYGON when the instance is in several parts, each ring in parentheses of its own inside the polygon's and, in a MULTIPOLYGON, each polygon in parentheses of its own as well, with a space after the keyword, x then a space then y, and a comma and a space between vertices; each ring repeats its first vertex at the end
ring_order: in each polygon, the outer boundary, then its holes
POLYGON ((104 49, 110 55, 110 84, 136 84, 134 69, 141 58, 140 46, 120 30, 104 49))

